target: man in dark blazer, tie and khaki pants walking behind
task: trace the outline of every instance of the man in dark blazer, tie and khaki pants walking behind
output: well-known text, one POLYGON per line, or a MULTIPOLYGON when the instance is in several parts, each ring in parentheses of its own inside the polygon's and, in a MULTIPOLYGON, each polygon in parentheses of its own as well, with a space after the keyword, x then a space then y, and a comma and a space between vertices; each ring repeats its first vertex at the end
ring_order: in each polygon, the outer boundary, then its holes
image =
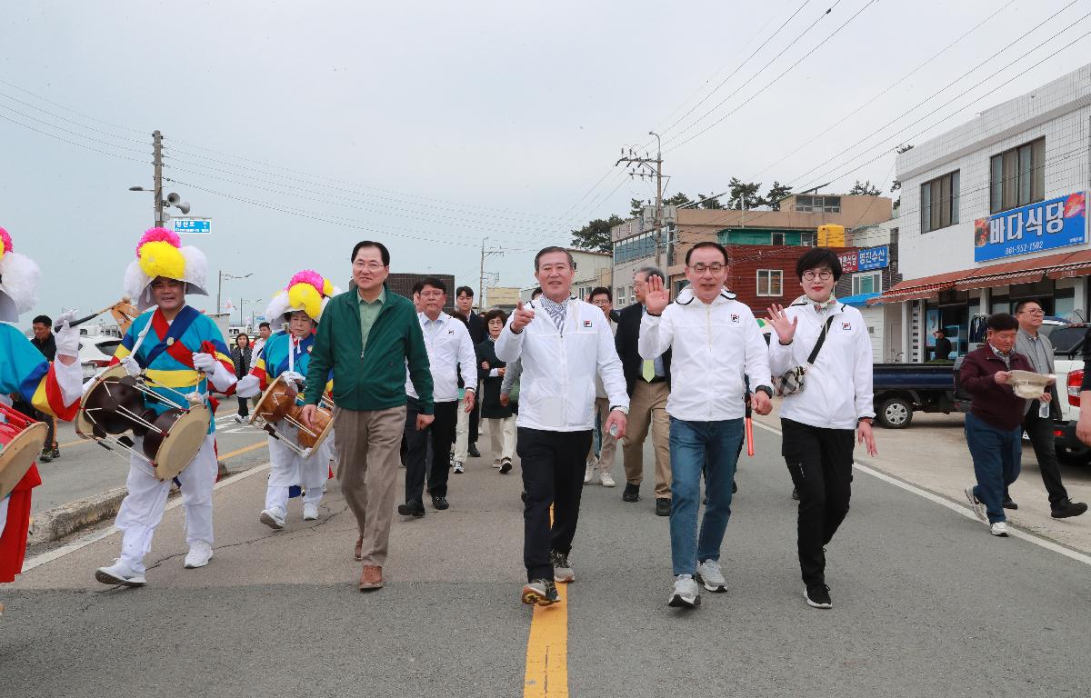
POLYGON ((656 452, 656 515, 670 516, 671 455, 667 398, 671 392, 671 350, 648 360, 642 359, 637 351, 640 320, 647 312, 644 293, 651 276, 667 282, 667 276, 654 266, 646 266, 633 275, 633 293, 637 302, 622 309, 618 320, 618 334, 614 336, 630 398, 628 426, 622 445, 625 464, 625 491, 622 500, 637 502, 640 498, 644 440, 647 438, 650 426, 651 444, 656 452))

